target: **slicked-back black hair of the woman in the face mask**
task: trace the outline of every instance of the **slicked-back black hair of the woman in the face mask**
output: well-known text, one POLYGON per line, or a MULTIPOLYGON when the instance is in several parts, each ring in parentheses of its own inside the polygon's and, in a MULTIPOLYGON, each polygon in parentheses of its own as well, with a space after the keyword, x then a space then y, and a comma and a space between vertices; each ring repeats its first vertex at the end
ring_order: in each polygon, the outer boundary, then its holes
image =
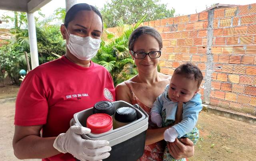
POLYGON ((94 11, 98 16, 100 16, 101 22, 102 22, 102 30, 103 30, 103 21, 102 21, 102 16, 100 14, 100 11, 87 3, 78 3, 72 6, 68 12, 66 13, 65 20, 64 20, 64 25, 68 27, 68 23, 72 20, 74 20, 74 17, 76 16, 77 12, 86 10, 86 11, 94 11))

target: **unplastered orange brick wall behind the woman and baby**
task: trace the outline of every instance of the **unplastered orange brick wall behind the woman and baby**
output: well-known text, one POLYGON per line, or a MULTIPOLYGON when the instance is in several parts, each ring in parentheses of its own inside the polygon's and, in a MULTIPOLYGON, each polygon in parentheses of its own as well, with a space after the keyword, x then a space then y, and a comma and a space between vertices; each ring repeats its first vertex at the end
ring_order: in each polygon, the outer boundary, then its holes
POLYGON ((192 61, 204 74, 205 103, 256 114, 256 4, 142 25, 162 36, 162 73, 172 75, 178 65, 192 61))

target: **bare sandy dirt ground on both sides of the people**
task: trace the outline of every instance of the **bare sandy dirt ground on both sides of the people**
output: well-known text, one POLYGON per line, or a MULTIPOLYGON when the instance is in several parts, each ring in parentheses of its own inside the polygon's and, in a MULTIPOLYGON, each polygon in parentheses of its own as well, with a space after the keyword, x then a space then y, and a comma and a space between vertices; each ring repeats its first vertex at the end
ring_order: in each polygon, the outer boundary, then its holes
MULTIPOLYGON (((18 91, 14 87, 12 90, 18 91)), ((0 90, 0 98, 4 98, 2 93, 8 93, 11 97, 16 95, 0 90)), ((18 160, 12 149, 14 111, 14 101, 0 100, 0 160, 3 161, 18 160)), ((197 127, 200 141, 195 146, 195 155, 189 161, 256 161, 256 125, 201 112, 197 127)), ((26 161, 32 160, 39 161, 26 161)))

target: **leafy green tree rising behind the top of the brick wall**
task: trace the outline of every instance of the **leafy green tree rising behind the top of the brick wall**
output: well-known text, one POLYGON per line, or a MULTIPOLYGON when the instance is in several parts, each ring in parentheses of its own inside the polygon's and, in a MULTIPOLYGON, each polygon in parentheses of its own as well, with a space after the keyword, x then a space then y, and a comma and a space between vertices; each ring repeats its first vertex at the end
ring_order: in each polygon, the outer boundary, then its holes
POLYGON ((175 10, 167 9, 167 4, 160 4, 160 0, 112 0, 100 12, 106 26, 114 27, 120 18, 124 24, 134 24, 141 15, 148 15, 144 21, 159 20, 173 17, 175 10))

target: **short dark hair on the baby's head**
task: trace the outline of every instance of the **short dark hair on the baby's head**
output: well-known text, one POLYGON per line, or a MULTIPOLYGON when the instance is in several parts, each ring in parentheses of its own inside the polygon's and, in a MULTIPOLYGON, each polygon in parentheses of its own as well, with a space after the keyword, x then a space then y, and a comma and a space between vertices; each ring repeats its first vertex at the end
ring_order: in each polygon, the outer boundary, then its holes
POLYGON ((178 68, 175 69, 173 74, 184 75, 188 79, 193 79, 197 81, 198 88, 200 87, 200 84, 204 78, 200 69, 190 62, 180 65, 178 68))

